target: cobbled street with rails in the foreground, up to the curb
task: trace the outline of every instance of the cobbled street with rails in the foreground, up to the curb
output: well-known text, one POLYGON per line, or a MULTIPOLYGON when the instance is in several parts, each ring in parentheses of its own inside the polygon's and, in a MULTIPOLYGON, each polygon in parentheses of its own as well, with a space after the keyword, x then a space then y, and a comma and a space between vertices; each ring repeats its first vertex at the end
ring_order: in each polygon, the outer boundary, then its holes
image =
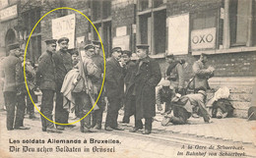
MULTIPOLYGON (((39 117, 39 114, 36 113, 36 116, 39 117)), ((31 130, 7 132, 5 117, 5 112, 1 112, 1 157, 3 158, 45 157, 45 155, 47 157, 63 158, 92 156, 127 158, 214 156, 210 155, 211 153, 217 154, 214 157, 225 157, 220 156, 220 154, 228 151, 235 151, 246 155, 240 157, 256 156, 255 147, 250 143, 234 142, 222 138, 217 139, 211 136, 184 134, 184 132, 192 130, 191 125, 169 126, 166 129, 175 129, 174 132, 170 132, 156 130, 158 122, 155 122, 155 130, 150 135, 143 135, 141 134, 142 131, 136 133, 128 132, 131 129, 130 125, 132 123, 126 126, 123 125, 125 127, 124 132, 99 131, 82 133, 79 131, 79 124, 77 124, 73 129, 66 128, 63 133, 47 133, 41 132, 39 119, 30 120, 26 116, 25 125, 31 127, 31 130), (63 140, 66 142, 59 142, 63 140), (74 142, 67 143, 70 140, 74 142), (215 147, 211 148, 211 146, 215 147), (236 150, 226 149, 226 146, 234 146, 236 150), (108 150, 109 152, 100 152, 102 150, 108 150)), ((120 118, 121 116, 119 116, 120 118)), ((193 131, 199 132, 199 130, 196 130, 196 127, 194 127, 193 131)))

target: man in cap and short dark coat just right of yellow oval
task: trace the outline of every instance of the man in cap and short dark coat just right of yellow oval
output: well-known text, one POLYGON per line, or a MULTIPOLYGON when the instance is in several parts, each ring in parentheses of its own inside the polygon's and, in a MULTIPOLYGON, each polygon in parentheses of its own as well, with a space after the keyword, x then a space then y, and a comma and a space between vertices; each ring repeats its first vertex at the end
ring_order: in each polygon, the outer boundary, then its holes
POLYGON ((105 119, 105 131, 123 131, 118 127, 118 111, 122 107, 124 96, 124 70, 119 61, 122 50, 120 47, 114 47, 111 50, 111 57, 106 62, 105 92, 109 102, 105 119))

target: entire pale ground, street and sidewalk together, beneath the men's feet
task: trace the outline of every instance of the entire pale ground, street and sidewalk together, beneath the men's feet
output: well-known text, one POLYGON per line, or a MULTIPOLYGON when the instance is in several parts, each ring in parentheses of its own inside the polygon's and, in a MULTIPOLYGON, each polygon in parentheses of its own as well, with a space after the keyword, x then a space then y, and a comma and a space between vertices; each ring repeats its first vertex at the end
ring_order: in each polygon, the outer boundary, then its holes
MULTIPOLYGON (((39 114, 36 113, 39 118, 39 114)), ((105 113, 103 115, 103 122, 105 119, 105 113)), ((131 117, 130 124, 121 124, 125 128, 125 131, 118 132, 105 132, 98 131, 93 133, 82 133, 79 131, 80 123, 76 124, 73 129, 66 128, 63 133, 49 133, 41 132, 41 123, 39 119, 31 120, 26 116, 25 125, 31 127, 29 131, 11 131, 6 130, 6 112, 0 113, 1 129, 0 129, 0 157, 2 158, 23 158, 23 157, 116 157, 116 158, 172 158, 172 157, 234 157, 234 156, 221 156, 224 152, 237 152, 244 153, 245 156, 239 157, 256 157, 255 146, 252 143, 244 143, 242 141, 233 141, 233 137, 239 137, 239 131, 236 135, 231 131, 225 131, 230 128, 227 126, 240 126, 243 131, 249 131, 244 129, 248 128, 247 124, 253 126, 255 122, 246 122, 239 119, 225 119, 226 122, 221 120, 214 120, 212 124, 204 124, 202 119, 189 120, 190 125, 184 126, 172 126, 167 127, 160 126, 160 114, 155 118, 153 124, 153 133, 149 135, 143 135, 142 131, 132 133, 129 132, 133 126, 133 118, 131 117), (226 124, 222 124, 226 123, 226 124), (228 125, 229 124, 229 125, 228 125), (232 124, 232 125, 231 125, 232 124), (244 126, 246 124, 246 127, 244 126), (214 134, 215 132, 218 132, 214 134), (211 134, 210 134, 211 133, 211 134), (226 134, 231 133, 228 139, 224 139, 226 134), (91 143, 90 140, 103 140, 110 143, 91 143), (47 142, 48 139, 54 140, 80 140, 81 143, 58 143, 47 142), (20 142, 17 142, 17 141, 20 142), (43 140, 44 143, 34 143, 33 141, 43 140), (85 141, 86 140, 86 141, 85 141), (119 143, 111 143, 113 141, 119 141, 119 143), (24 141, 24 142, 23 142, 24 141), (31 141, 31 142, 29 142, 31 141), (184 145, 184 146, 183 146, 184 145), (210 148, 213 145, 215 148, 210 148), (217 148, 217 146, 234 146, 237 149, 230 150, 225 148, 217 148), (13 146, 13 147, 10 147, 13 146), (23 149, 23 146, 24 149, 23 149), (26 147, 30 147, 30 150, 26 147), (65 148, 66 147, 66 148, 65 148), (71 149, 73 147, 73 149, 71 149), (94 148, 95 147, 95 148, 94 148), (242 149, 238 149, 241 147, 242 149), (18 148, 19 152, 18 152, 18 148), (68 149, 67 149, 68 148, 68 149), (77 151, 75 150, 77 148, 77 151), (78 149, 81 149, 79 151, 78 149), (96 152, 96 148, 99 151, 100 148, 114 148, 114 152, 96 152), (191 149, 190 149, 191 148, 191 149), (51 151, 52 149, 52 151, 51 151), (95 150, 94 150, 95 149, 95 150), (10 150, 14 150, 11 152, 10 150), (67 151, 69 150, 69 151, 67 151), (73 151, 73 152, 71 152, 73 151), (76 151, 76 152, 74 152, 76 151), (94 152, 95 151, 95 152, 94 152), (193 153, 194 152, 194 153, 193 153), (196 153, 197 152, 197 153, 196 153), (217 153, 212 156, 211 153, 217 153), (193 155, 198 154, 198 155, 193 155), (201 154, 201 155, 200 155, 201 154), (204 155, 205 154, 205 155, 204 155)), ((122 111, 118 120, 122 119, 122 111)), ((70 119, 70 123, 75 120, 70 119)), ((255 127, 255 126, 254 126, 255 127)), ((239 129, 239 127, 236 127, 239 129)), ((243 134, 246 135, 246 134, 243 134)), ((248 135, 247 135, 248 136, 248 135)), ((255 135, 254 135, 255 136, 255 135)), ((242 136, 241 136, 242 137, 242 136)), ((242 137, 243 138, 243 137, 242 137)), ((241 138, 241 140, 242 140, 241 138)))

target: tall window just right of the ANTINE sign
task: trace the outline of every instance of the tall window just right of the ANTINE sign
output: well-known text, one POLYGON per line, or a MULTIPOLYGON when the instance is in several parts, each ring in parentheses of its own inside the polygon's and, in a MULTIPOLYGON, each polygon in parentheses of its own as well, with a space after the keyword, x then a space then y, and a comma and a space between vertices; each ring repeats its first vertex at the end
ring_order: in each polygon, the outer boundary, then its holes
MULTIPOLYGON (((111 1, 110 0, 92 0, 92 15, 93 23, 103 42, 105 56, 112 49, 112 35, 111 35, 111 1)), ((96 30, 93 27, 93 40, 99 40, 96 30)))

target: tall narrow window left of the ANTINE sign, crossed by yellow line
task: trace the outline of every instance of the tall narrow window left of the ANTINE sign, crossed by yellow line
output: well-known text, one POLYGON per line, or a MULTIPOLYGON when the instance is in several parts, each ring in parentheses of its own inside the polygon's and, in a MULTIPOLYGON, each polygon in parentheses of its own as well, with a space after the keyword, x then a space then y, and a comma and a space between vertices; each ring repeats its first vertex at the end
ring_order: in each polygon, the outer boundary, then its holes
MULTIPOLYGON (((40 8, 34 8, 28 12, 23 13, 23 20, 25 26, 27 27, 27 39, 32 31, 33 26, 40 19, 40 8)), ((40 35, 40 23, 33 29, 32 37, 30 39, 30 44, 27 49, 27 56, 32 60, 32 62, 37 62, 37 59, 41 55, 41 35, 40 35)))

